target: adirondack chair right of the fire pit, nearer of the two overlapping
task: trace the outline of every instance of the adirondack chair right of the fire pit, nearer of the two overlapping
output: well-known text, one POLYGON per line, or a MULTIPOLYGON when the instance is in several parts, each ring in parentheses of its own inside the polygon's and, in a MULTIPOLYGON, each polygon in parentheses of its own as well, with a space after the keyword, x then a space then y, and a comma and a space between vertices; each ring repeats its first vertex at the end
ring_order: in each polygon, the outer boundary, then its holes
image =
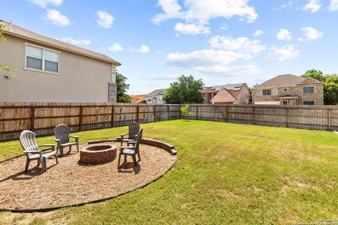
POLYGON ((135 135, 136 141, 129 141, 128 146, 121 146, 120 155, 118 155, 118 169, 120 169, 120 160, 122 155, 125 155, 125 162, 127 161, 127 155, 132 156, 132 162, 134 163, 134 166, 137 165, 136 155, 139 157, 139 161, 141 161, 141 156, 139 155, 139 144, 142 141, 142 133, 143 129, 141 129, 139 133, 135 135))

